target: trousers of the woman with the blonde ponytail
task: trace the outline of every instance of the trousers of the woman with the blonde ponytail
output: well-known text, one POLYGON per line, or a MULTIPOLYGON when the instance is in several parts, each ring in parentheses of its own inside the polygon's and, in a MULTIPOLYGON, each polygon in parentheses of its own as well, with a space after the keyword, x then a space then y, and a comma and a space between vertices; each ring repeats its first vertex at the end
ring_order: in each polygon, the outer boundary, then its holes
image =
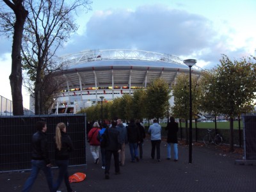
POLYGON ((57 191, 58 188, 60 188, 61 182, 64 179, 67 191, 73 191, 71 189, 69 180, 68 180, 68 160, 55 160, 56 165, 59 167, 59 176, 58 179, 56 180, 56 183, 53 185, 54 191, 57 191))

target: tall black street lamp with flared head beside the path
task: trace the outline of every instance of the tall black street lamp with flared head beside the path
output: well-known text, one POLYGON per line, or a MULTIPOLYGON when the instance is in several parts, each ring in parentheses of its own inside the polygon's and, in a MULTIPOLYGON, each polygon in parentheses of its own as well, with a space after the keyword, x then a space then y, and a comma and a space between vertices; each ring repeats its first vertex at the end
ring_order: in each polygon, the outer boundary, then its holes
POLYGON ((196 64, 196 60, 184 60, 189 67, 189 163, 192 163, 192 86, 191 86, 191 67, 196 64))

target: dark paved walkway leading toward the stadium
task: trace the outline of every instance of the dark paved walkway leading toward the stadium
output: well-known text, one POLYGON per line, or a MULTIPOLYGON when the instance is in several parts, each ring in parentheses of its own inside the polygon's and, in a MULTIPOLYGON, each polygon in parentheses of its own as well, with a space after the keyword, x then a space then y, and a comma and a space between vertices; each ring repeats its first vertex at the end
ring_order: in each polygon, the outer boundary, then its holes
MULTIPOLYGON (((166 160, 166 143, 161 143, 161 162, 150 158, 151 144, 144 143, 144 160, 130 163, 129 147, 126 145, 125 166, 115 175, 111 165, 110 179, 104 179, 101 163, 94 164, 87 147, 87 168, 71 167, 69 173, 84 172, 83 182, 72 183, 76 191, 256 191, 256 166, 235 164, 239 154, 223 154, 210 147, 193 146, 193 162, 188 163, 188 146, 179 145, 179 161, 166 160)), ((54 176, 58 170, 53 170, 54 176)), ((29 172, 1 173, 1 191, 21 191, 29 172)), ((61 184, 60 190, 66 191, 61 184)), ((45 192, 47 184, 42 172, 38 175, 32 191, 45 192)))

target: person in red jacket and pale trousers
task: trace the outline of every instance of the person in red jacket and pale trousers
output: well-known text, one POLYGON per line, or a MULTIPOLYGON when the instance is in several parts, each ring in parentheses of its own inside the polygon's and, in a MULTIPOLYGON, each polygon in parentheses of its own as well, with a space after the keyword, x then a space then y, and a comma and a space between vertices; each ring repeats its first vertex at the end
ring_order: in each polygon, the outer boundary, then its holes
POLYGON ((100 131, 100 125, 98 122, 93 124, 92 129, 88 132, 88 141, 90 143, 90 150, 94 159, 94 163, 99 163, 99 150, 100 150, 100 141, 97 140, 97 136, 100 131))

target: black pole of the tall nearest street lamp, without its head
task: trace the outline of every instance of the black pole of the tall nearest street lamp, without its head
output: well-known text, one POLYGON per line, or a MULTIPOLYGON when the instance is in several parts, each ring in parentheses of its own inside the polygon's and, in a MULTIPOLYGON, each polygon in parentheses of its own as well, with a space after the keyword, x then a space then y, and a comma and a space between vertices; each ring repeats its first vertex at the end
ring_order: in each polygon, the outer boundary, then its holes
POLYGON ((189 163, 192 163, 192 85, 191 66, 189 66, 189 163))

